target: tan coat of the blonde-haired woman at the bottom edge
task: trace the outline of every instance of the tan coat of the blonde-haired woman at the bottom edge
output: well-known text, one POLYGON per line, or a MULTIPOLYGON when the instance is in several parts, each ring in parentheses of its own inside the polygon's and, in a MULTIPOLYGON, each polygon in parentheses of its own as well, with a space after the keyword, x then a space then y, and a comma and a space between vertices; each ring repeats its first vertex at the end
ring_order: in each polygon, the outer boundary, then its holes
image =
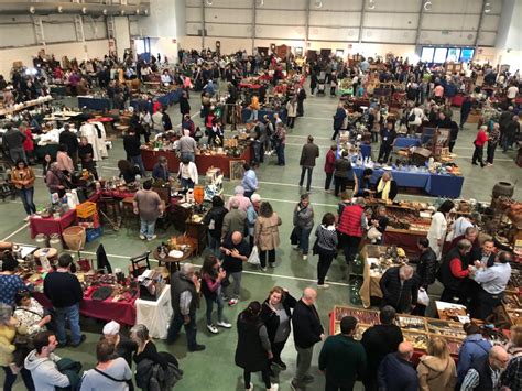
POLYGON ((455 361, 434 356, 423 356, 417 366, 418 389, 421 391, 453 391, 457 384, 455 361))

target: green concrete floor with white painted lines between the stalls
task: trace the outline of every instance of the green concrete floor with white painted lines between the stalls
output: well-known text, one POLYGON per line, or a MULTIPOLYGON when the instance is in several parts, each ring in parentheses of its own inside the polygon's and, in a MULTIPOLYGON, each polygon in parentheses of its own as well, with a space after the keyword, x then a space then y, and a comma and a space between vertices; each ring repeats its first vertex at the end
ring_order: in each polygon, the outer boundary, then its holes
MULTIPOLYGON (((199 95, 191 94, 191 105, 194 109, 199 108, 199 95)), ((74 105, 74 100, 68 100, 74 105)), ((315 137, 316 143, 320 148, 322 156, 318 159, 318 165, 313 175, 313 188, 311 194, 312 205, 315 209, 316 222, 327 211, 336 209, 337 199, 334 195, 326 194, 323 191, 325 174, 323 172, 324 156, 330 145, 331 137, 331 116, 335 112, 337 100, 328 96, 326 97, 308 97, 305 101, 305 116, 297 118, 295 129, 289 132, 286 143, 286 166, 280 167, 275 165, 275 156, 268 158, 265 163, 259 169, 258 177, 260 181, 260 195, 263 199, 270 200, 274 210, 281 216, 283 225, 281 227, 282 245, 278 250, 276 268, 269 270, 267 273, 259 272, 250 267, 246 267, 242 282, 242 301, 236 307, 227 307, 225 309, 226 317, 236 323, 237 315, 246 307, 249 301, 263 301, 269 290, 274 285, 281 285, 295 295, 306 286, 315 285, 316 276, 316 257, 309 257, 307 261, 303 261, 295 251, 290 247, 290 232, 292 229, 292 210, 298 199, 300 188, 297 186, 298 175, 301 173, 298 166, 298 158, 301 148, 306 141, 306 137, 312 134, 315 137)), ((196 111, 194 111, 196 112, 196 111)), ((170 109, 173 123, 181 122, 178 107, 174 106, 170 109)), ((455 112, 458 116, 458 112, 455 112)), ((195 120, 200 123, 198 116, 195 120)), ((229 133, 229 132, 227 132, 229 133)), ((514 152, 510 151, 503 154, 497 152, 494 165, 488 169, 480 169, 471 165, 470 158, 472 154, 472 140, 476 134, 476 126, 468 124, 460 132, 455 152, 458 154, 457 163, 460 165, 465 175, 464 188, 461 196, 465 198, 475 198, 478 200, 489 200, 491 188, 498 181, 510 181, 516 183, 522 180, 522 171, 516 167, 513 162, 514 152)), ((109 152, 109 159, 98 164, 98 171, 101 176, 110 177, 118 174, 116 162, 124 156, 121 139, 113 143, 113 149, 109 152)), ((373 154, 378 152, 373 146, 373 154)), ((37 169, 40 170, 40 167, 37 169)), ((39 173, 41 174, 41 173, 39 173)), ((230 195, 237 183, 226 182, 225 194, 230 195)), ((522 188, 518 186, 515 197, 522 198, 522 188)), ((400 194, 398 199, 415 199, 415 200, 433 200, 433 198, 400 194)), ((40 177, 36 181, 35 202, 46 203, 48 200, 47 191, 40 177)), ((23 208, 19 200, 0 203, 0 238, 4 238, 20 242, 33 243, 30 238, 26 224, 23 222, 23 208)), ((175 232, 171 229, 166 232, 159 231, 157 242, 168 238, 175 232)), ((110 262, 113 268, 127 269, 129 257, 142 253, 146 249, 153 249, 155 242, 146 243, 138 239, 138 231, 128 230, 126 228, 118 232, 113 232, 108 227, 100 240, 88 243, 85 251, 86 256, 94 256, 96 247, 102 242, 110 262)), ((202 263, 202 259, 194 260, 196 264, 202 263)), ((340 269, 344 260, 339 257, 329 270, 330 287, 318 292, 317 307, 322 316, 323 325, 328 328, 328 313, 336 304, 349 305, 349 285, 342 280, 340 269)), ((431 293, 439 294, 439 287, 435 286, 431 293)), ((203 304, 203 303, 202 303, 203 304)), ((176 385, 176 390, 205 390, 214 389, 217 391, 242 390, 242 371, 235 366, 233 355, 236 349, 236 328, 230 330, 221 330, 218 335, 210 335, 204 321, 205 304, 197 313, 198 324, 198 343, 205 344, 207 349, 202 352, 187 352, 185 337, 182 336, 178 341, 171 347, 165 346, 162 341, 156 341, 160 350, 168 350, 181 359, 182 369, 185 374, 183 380, 176 385)), ((433 313, 433 308, 428 308, 428 314, 433 313)), ((80 360, 85 369, 93 368, 96 363, 95 346, 99 338, 102 323, 94 319, 83 319, 83 328, 87 333, 87 341, 77 349, 59 350, 61 356, 72 357, 80 360)), ((312 372, 316 377, 316 381, 308 385, 308 390, 324 389, 324 378, 317 370, 317 355, 322 344, 316 345, 315 356, 313 360, 312 372)), ((287 363, 287 370, 279 373, 276 381, 281 384, 280 390, 290 390, 290 380, 295 369, 295 349, 293 347, 292 337, 286 344, 283 351, 283 360, 287 363)), ((2 372, 3 376, 3 372, 2 372)), ((262 389, 260 377, 254 376, 253 383, 255 390, 262 389)), ((0 381, 1 378, 0 378, 0 381)), ((21 380, 17 382, 15 390, 22 390, 21 380)), ((357 389, 362 389, 358 383, 357 389)))

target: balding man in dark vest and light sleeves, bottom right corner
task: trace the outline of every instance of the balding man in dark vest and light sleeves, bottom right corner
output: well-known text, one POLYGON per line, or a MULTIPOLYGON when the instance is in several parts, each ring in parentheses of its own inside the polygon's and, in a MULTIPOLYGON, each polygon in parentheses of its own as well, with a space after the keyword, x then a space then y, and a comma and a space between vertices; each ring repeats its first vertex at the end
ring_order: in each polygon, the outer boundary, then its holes
MULTIPOLYGON (((464 378, 460 391, 498 390, 500 373, 509 362, 509 355, 501 346, 493 346, 488 356, 475 360, 464 378)), ((513 390, 514 391, 514 390, 513 390)))

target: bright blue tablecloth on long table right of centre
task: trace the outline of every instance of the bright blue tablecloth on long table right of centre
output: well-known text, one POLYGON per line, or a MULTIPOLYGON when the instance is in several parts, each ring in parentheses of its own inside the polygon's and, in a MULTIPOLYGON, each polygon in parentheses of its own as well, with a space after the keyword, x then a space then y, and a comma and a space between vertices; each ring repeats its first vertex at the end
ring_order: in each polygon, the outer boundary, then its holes
MULTIPOLYGON (((355 166, 354 171, 360 178, 365 169, 355 166)), ((376 184, 382 176, 383 170, 373 170, 371 183, 376 184)), ((409 173, 392 171, 393 180, 400 187, 417 187, 427 194, 438 197, 458 198, 463 191, 464 177, 454 175, 441 175, 429 173, 409 173)))

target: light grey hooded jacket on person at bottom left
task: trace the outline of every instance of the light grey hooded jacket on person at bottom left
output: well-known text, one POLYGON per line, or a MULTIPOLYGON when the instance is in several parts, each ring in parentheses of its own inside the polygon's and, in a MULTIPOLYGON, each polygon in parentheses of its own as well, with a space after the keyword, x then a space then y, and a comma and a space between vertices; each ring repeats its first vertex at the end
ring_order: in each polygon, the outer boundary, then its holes
POLYGON ((69 378, 58 371, 58 361, 59 357, 54 354, 37 357, 36 350, 32 350, 25 358, 24 367, 31 372, 36 391, 54 391, 55 387, 70 385, 69 378))

